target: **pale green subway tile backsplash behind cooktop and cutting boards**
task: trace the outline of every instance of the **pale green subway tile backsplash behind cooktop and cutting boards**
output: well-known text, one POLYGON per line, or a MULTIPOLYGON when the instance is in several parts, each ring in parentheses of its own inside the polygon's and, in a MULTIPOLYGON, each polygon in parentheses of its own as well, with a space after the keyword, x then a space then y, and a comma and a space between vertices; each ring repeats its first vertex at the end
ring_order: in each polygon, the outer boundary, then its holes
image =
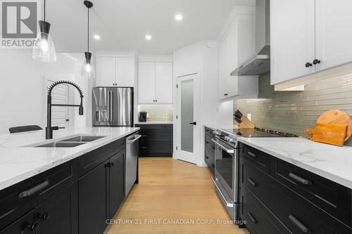
MULTIPOLYGON (((234 110, 251 113, 256 126, 307 137, 318 117, 331 109, 352 116, 352 74, 305 86, 305 91, 274 91, 270 74, 259 78, 259 98, 234 101, 234 110)), ((237 124, 234 122, 234 124, 237 124)), ((352 146, 352 138, 345 145, 352 146)))

